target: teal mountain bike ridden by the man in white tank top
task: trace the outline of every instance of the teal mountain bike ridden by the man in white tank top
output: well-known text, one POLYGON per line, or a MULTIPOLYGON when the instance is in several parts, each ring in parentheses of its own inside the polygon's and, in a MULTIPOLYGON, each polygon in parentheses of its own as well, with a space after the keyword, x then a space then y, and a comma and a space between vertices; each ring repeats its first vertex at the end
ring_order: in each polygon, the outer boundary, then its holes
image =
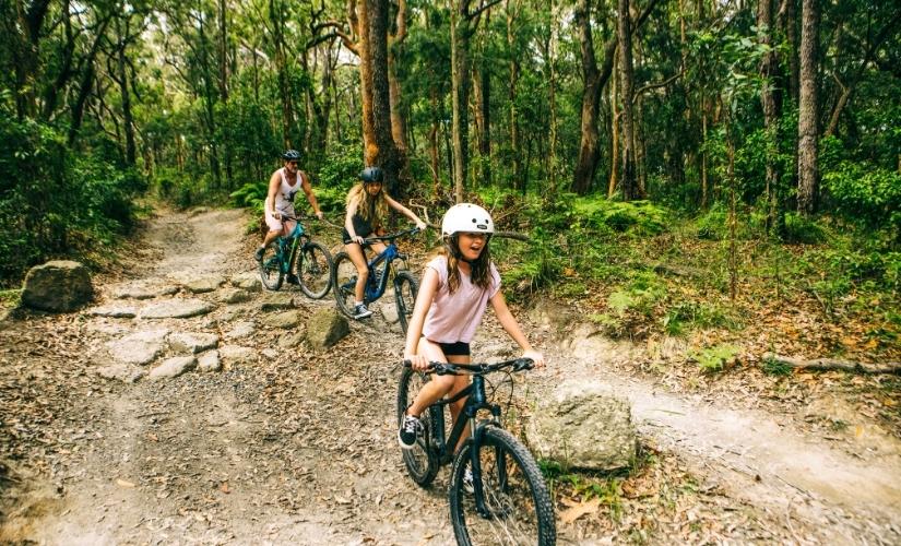
POLYGON ((299 219, 291 216, 282 219, 293 219, 296 224, 291 235, 278 236, 263 249, 259 264, 263 286, 277 290, 286 275, 296 275, 304 294, 313 299, 324 297, 332 287, 332 254, 310 239, 311 234, 299 219))

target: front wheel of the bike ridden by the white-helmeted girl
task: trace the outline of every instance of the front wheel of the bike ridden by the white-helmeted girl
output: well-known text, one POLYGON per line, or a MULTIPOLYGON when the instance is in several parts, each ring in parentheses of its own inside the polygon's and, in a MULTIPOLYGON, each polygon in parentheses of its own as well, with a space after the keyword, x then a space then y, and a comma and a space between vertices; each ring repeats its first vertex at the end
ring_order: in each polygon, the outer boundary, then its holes
POLYGON ((467 440, 458 452, 448 486, 457 544, 556 544, 554 505, 532 453, 507 430, 487 426, 478 455, 487 513, 479 514, 463 482, 472 449, 467 440))

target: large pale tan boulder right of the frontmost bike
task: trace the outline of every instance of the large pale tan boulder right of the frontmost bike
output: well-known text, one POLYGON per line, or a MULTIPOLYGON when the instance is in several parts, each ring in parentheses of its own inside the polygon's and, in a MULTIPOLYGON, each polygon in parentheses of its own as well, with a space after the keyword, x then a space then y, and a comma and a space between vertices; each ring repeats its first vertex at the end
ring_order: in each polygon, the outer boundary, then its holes
POLYGON ((629 466, 637 447, 629 401, 583 381, 567 381, 538 401, 527 438, 542 459, 586 470, 629 466))

